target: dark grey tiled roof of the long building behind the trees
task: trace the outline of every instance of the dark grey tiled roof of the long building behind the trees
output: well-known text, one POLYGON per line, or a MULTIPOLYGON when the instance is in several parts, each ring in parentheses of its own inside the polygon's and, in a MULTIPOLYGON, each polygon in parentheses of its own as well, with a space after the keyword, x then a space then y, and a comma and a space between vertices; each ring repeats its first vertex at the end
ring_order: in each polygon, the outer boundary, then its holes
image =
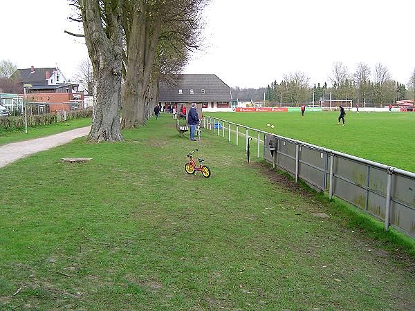
POLYGON ((172 84, 160 82, 158 101, 230 102, 230 87, 213 74, 181 74, 174 77, 172 84), (179 90, 182 90, 181 94, 179 90))

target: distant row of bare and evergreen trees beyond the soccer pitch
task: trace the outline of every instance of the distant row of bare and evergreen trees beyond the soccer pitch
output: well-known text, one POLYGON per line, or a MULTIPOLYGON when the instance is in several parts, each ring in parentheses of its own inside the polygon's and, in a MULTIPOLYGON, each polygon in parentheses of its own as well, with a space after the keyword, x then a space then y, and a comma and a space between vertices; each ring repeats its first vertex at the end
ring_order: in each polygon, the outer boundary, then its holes
POLYGON ((284 75, 282 82, 272 82, 266 88, 266 100, 271 103, 296 104, 298 102, 318 102, 321 99, 328 100, 353 100, 363 104, 381 106, 393 103, 396 100, 414 98, 415 69, 408 82, 409 90, 405 84, 394 81, 386 66, 376 64, 374 73, 365 63, 359 63, 354 73, 342 62, 334 62, 331 75, 329 75, 332 86, 314 84, 310 86, 310 79, 306 73, 295 72, 284 75))

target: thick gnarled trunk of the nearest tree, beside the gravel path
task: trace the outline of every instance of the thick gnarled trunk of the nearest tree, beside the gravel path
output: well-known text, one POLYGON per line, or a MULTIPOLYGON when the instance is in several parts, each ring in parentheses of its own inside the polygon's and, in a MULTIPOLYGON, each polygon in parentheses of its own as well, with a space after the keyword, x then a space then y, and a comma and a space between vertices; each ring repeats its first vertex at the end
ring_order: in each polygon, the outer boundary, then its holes
POLYGON ((122 5, 124 0, 77 0, 93 68, 94 113, 89 142, 122 140, 122 5))

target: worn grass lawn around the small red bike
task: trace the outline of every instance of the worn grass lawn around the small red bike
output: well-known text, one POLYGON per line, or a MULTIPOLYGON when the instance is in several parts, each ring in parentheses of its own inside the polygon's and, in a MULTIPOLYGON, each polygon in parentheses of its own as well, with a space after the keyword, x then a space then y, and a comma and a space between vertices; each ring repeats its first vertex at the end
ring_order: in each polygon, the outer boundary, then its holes
POLYGON ((411 259, 222 138, 169 115, 124 137, 0 169, 2 310, 415 308, 411 259), (194 148, 211 178, 185 173, 194 148))

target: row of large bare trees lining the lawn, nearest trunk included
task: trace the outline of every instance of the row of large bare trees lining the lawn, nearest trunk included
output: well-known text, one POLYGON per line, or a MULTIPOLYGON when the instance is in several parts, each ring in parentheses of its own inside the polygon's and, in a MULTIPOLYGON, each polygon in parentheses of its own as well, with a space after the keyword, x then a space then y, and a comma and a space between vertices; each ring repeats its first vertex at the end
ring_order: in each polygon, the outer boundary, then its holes
POLYGON ((205 3, 70 0, 75 8, 71 19, 82 23, 84 34, 68 33, 85 37, 92 64, 90 142, 122 140, 121 128, 145 124, 157 102, 159 82, 172 82, 199 46, 205 3))

